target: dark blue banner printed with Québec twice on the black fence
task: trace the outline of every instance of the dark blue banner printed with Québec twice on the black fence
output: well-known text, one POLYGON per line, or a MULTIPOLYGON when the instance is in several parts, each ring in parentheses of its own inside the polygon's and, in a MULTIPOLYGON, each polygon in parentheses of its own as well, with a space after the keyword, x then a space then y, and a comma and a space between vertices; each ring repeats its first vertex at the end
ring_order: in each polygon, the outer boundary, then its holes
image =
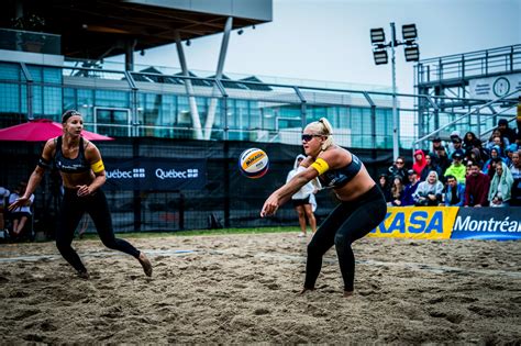
POLYGON ((106 190, 200 190, 207 183, 206 159, 106 158, 106 190))

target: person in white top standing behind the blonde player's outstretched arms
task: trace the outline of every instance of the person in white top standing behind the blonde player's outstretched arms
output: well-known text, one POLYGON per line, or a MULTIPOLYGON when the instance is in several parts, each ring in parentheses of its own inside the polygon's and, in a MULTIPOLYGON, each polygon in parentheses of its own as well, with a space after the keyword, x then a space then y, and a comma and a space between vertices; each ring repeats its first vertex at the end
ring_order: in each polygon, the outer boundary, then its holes
MULTIPOLYGON (((300 163, 306 158, 306 156, 299 154, 293 164, 293 169, 288 172, 288 177, 286 178, 286 182, 291 180, 300 171, 306 170, 304 167, 300 166, 300 163)), ((314 217, 313 212, 317 210, 317 199, 314 198, 314 193, 320 189, 320 182, 314 179, 304 185, 297 193, 291 197, 291 202, 299 215, 299 224, 300 224, 300 234, 299 237, 306 237, 307 235, 307 224, 306 217, 308 217, 309 226, 311 227, 311 232, 314 233, 317 231, 317 219, 314 217)))

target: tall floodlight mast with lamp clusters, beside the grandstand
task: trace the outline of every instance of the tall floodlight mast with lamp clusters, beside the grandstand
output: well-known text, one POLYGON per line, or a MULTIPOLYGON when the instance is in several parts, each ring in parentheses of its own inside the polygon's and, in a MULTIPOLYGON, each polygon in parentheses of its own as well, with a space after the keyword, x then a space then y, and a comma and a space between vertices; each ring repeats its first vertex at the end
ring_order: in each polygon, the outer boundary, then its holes
POLYGON ((396 97, 396 59, 395 47, 403 45, 406 62, 420 60, 420 47, 415 43, 418 38, 418 31, 415 24, 406 24, 401 26, 401 34, 403 41, 396 40, 395 23, 391 26, 391 41, 386 43, 386 33, 383 27, 370 30, 370 44, 373 45, 373 56, 376 65, 385 65, 388 63, 387 48, 391 48, 391 65, 392 65, 392 157, 396 160, 400 155, 400 144, 398 141, 398 110, 396 97))

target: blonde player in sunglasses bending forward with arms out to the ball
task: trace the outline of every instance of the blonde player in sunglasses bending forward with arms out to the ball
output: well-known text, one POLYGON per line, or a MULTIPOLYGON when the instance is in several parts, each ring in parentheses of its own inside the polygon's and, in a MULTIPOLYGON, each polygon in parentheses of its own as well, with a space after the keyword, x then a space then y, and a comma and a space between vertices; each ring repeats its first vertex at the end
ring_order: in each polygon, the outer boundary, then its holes
POLYGON ((314 290, 322 257, 334 245, 344 279, 344 295, 348 297, 353 294, 355 276, 355 257, 351 244, 384 221, 387 205, 362 161, 335 145, 332 134, 331 124, 324 118, 306 126, 302 146, 308 157, 300 165, 307 169, 269 196, 260 216, 275 214, 295 192, 317 177, 323 188, 332 188, 341 203, 320 225, 308 245, 306 281, 301 293, 314 290))

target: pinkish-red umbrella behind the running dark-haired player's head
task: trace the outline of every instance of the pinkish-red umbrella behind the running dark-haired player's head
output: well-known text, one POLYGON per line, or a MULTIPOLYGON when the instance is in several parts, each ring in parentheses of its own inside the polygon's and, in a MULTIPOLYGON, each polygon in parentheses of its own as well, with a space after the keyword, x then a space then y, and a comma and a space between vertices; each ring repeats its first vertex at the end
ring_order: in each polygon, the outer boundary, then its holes
MULTIPOLYGON (((62 124, 48 119, 37 119, 29 123, 0 130, 0 141, 44 142, 63 134, 62 124)), ((114 139, 86 130, 81 131, 81 136, 89 141, 114 139)))

